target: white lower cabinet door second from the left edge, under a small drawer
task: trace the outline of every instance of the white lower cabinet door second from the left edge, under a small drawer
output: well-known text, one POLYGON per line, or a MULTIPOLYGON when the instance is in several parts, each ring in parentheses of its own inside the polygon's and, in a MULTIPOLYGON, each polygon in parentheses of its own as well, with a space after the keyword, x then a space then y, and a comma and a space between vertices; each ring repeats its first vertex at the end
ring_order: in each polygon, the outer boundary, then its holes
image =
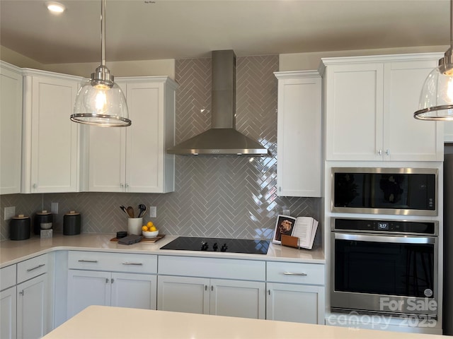
POLYGON ((17 285, 17 338, 47 333, 47 273, 17 285))

